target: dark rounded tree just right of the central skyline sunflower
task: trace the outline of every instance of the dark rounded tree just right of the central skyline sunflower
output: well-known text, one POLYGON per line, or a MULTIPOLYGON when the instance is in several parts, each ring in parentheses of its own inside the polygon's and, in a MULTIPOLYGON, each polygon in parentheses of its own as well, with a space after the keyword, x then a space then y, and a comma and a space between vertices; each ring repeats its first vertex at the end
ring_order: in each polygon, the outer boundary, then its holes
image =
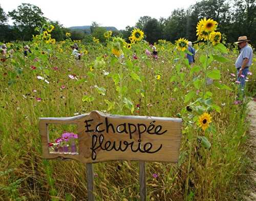
POLYGON ((161 26, 156 18, 148 20, 144 25, 143 31, 146 40, 151 44, 154 44, 154 42, 158 41, 162 36, 161 26))

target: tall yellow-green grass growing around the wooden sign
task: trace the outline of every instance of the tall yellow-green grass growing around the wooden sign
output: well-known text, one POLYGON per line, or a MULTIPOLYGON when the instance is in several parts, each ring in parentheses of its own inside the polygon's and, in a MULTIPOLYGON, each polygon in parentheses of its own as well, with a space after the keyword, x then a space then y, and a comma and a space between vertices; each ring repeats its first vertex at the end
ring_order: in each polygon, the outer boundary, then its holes
MULTIPOLYGON (((86 200, 87 183, 85 164, 76 161, 44 160, 41 158, 39 117, 74 116, 75 113, 86 113, 92 110, 105 111, 108 107, 105 99, 119 102, 115 84, 110 76, 104 76, 101 68, 95 68, 94 78, 88 71, 95 58, 108 50, 105 47, 88 47, 89 55, 77 61, 70 56, 69 50, 50 59, 44 69, 49 69, 47 84, 38 80, 42 75, 40 64, 36 70, 30 68, 35 62, 22 57, 16 52, 11 59, 0 66, 0 200, 86 200), (24 61, 23 61, 24 60, 24 61), (58 70, 52 67, 57 66, 58 70), (15 78, 16 83, 8 85, 10 72, 14 67, 23 67, 23 72, 15 78), (87 82, 75 84, 76 80, 68 77, 76 74, 80 80, 87 82), (65 89, 61 89, 65 85, 65 89), (94 85, 106 89, 106 94, 97 93, 94 85), (36 92, 33 92, 36 90, 36 92), (82 102, 83 95, 94 97, 92 103, 82 102), (41 98, 41 102, 36 101, 41 98)), ((139 115, 176 117, 182 108, 188 85, 193 80, 189 75, 190 68, 182 66, 185 72, 186 85, 169 82, 175 71, 173 46, 169 49, 159 46, 159 59, 149 59, 146 64, 140 58, 136 66, 144 75, 144 86, 127 76, 123 68, 124 85, 127 96, 132 102, 140 104, 139 115), (157 80, 156 75, 161 74, 157 80), (145 90, 146 101, 135 90, 145 90)), ((141 47, 138 57, 143 56, 141 47)), ((200 54, 200 53, 199 53, 200 54)), ((143 56, 145 57, 145 56, 143 56)), ((246 147, 248 123, 245 122, 246 104, 234 105, 236 87, 230 81, 230 72, 235 72, 233 63, 236 56, 230 52, 231 61, 226 64, 214 62, 222 72, 222 83, 234 91, 207 86, 213 93, 214 102, 221 107, 221 112, 212 113, 212 122, 216 134, 209 134, 211 148, 205 149, 199 142, 192 147, 188 191, 190 200, 239 200, 245 188, 245 170, 248 164, 246 147), (232 59, 233 58, 233 59, 232 59), (244 107, 243 107, 244 106, 244 107)), ((196 58, 199 58, 197 56, 196 58)), ((105 60, 104 70, 119 73, 120 65, 110 65, 111 56, 105 60)), ((199 60, 199 59, 198 59, 199 60)), ((199 61, 197 61, 199 62, 199 61)), ((255 64, 251 67, 255 80, 255 64)), ((200 72, 198 73, 200 74, 200 72)), ((202 75, 203 76, 203 75, 202 75)), ((247 83, 248 84, 248 83, 247 83)), ((249 82, 249 86, 253 84, 249 82)), ((117 113, 118 108, 110 113, 117 113)), ((130 114, 124 109, 125 114, 130 114)), ((62 132, 62 131, 59 131, 62 132)), ((199 131, 197 131, 199 132, 199 131)), ((146 184, 148 200, 184 200, 185 181, 188 164, 188 139, 193 131, 183 126, 181 156, 178 164, 146 163, 146 184), (158 175, 153 177, 153 173, 158 175)), ((138 162, 116 161, 94 164, 96 200, 139 200, 138 162)))

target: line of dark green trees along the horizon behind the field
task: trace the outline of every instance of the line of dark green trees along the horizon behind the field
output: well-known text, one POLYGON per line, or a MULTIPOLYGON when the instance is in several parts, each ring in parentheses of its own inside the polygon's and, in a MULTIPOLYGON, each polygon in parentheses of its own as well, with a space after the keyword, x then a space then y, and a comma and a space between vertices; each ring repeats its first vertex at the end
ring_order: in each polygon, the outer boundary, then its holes
MULTIPOLYGON (((188 9, 175 9, 167 18, 152 18, 142 16, 133 27, 114 31, 114 36, 128 39, 134 28, 143 30, 145 40, 154 43, 159 39, 174 42, 180 37, 196 41, 196 26, 201 18, 216 20, 219 31, 226 42, 235 42, 239 36, 246 35, 256 46, 256 0, 202 0, 188 9)), ((41 9, 31 4, 22 4, 16 10, 6 14, 0 5, 0 41, 31 40, 36 35, 35 27, 48 21, 55 29, 51 33, 57 41, 65 39, 67 32, 72 34, 73 40, 92 41, 93 37, 103 42, 105 28, 97 22, 91 24, 91 33, 81 30, 69 30, 58 21, 51 21, 43 16, 41 9), (14 26, 7 24, 8 18, 13 20, 14 26)), ((76 24, 74 24, 75 26, 76 24)))

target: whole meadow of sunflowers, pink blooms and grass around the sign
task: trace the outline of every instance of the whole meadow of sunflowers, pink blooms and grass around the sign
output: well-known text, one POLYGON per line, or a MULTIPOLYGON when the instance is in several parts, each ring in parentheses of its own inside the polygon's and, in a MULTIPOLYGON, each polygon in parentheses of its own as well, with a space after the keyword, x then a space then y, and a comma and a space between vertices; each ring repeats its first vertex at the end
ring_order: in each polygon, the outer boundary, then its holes
MULTIPOLYGON (((84 164, 41 158, 38 118, 93 110, 183 119, 179 163, 146 163, 148 200, 241 198, 249 162, 246 104, 256 96, 256 61, 246 97, 239 99, 234 68, 239 52, 220 43, 217 22, 198 22, 192 65, 184 38, 175 44, 159 40, 153 56, 138 29, 129 43, 106 32, 105 44, 97 38, 90 44, 72 41, 69 33, 56 42, 52 29, 44 24, 33 41, 7 43, 1 58, 0 200, 86 200, 84 164), (72 55, 74 43, 80 60, 72 55), (31 49, 27 57, 25 45, 31 49)), ((50 127, 50 149, 70 142, 67 152, 75 153, 75 129, 50 127)), ((94 171, 96 200, 139 200, 138 162, 97 163, 94 171)))

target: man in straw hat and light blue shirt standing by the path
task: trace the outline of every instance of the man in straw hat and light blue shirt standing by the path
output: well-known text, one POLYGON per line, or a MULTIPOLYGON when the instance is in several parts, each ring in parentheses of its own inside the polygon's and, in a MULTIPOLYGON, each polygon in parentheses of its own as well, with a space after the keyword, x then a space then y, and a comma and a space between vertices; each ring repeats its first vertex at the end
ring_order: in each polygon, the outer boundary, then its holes
POLYGON ((240 36, 236 42, 240 47, 240 54, 236 61, 236 68, 241 90, 244 89, 245 79, 252 63, 252 48, 247 44, 248 41, 249 40, 247 40, 246 36, 240 36))

